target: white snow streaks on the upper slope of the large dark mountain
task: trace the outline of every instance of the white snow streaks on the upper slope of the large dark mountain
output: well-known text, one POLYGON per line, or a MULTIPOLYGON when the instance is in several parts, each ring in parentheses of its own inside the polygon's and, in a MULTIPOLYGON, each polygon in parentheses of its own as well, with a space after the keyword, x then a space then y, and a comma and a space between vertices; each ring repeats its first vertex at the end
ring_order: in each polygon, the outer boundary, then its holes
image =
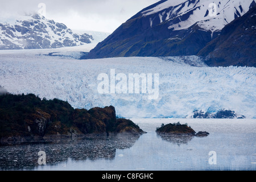
POLYGON ((160 18, 160 23, 164 18, 170 22, 168 28, 173 30, 184 30, 197 23, 204 30, 214 32, 222 30, 226 24, 245 14, 252 2, 253 0, 167 0, 142 11, 141 14, 156 14, 160 18), (210 3, 215 3, 216 7, 209 6, 210 3), (209 16, 213 11, 217 11, 216 16, 209 16))

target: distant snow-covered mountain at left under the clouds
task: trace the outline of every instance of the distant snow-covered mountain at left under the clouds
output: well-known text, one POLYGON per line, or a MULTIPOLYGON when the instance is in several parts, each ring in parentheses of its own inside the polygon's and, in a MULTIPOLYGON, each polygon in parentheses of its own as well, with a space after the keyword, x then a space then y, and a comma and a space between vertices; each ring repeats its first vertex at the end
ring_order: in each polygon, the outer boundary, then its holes
POLYGON ((0 22, 0 49, 44 49, 91 43, 92 35, 75 34, 63 23, 39 14, 20 16, 14 22, 0 22))

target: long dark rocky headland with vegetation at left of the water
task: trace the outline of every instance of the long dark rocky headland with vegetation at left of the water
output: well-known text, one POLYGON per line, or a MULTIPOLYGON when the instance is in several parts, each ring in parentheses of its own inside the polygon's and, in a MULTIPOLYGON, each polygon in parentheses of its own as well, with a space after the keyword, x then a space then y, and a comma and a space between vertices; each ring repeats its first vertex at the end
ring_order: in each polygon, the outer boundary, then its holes
POLYGON ((74 109, 56 98, 0 94, 0 145, 143 133, 132 121, 117 119, 113 106, 74 109))

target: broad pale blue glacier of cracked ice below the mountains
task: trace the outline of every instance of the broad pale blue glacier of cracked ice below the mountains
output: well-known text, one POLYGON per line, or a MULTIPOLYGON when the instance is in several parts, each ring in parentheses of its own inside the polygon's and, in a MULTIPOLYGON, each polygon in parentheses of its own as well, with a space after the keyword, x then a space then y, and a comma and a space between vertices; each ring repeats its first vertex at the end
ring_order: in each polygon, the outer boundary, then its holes
POLYGON ((75 108, 113 105, 117 115, 126 118, 184 118, 194 110, 220 109, 256 118, 256 68, 210 68, 196 56, 190 62, 181 57, 75 60, 37 51, 0 51, 0 85, 14 94, 59 98, 75 108), (97 77, 110 76, 110 69, 126 75, 159 73, 158 99, 148 100, 148 94, 99 94, 97 77))

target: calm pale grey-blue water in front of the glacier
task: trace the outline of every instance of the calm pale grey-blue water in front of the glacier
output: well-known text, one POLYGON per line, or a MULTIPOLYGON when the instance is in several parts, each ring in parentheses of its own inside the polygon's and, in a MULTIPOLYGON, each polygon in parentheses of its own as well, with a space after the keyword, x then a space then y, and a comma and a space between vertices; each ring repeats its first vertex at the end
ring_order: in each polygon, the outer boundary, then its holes
POLYGON ((147 134, 0 147, 2 170, 255 170, 256 119, 131 119, 147 134), (161 138, 162 123, 188 123, 205 138, 161 138), (46 165, 38 152, 46 152, 46 165), (216 163, 209 164, 209 152, 216 163))

